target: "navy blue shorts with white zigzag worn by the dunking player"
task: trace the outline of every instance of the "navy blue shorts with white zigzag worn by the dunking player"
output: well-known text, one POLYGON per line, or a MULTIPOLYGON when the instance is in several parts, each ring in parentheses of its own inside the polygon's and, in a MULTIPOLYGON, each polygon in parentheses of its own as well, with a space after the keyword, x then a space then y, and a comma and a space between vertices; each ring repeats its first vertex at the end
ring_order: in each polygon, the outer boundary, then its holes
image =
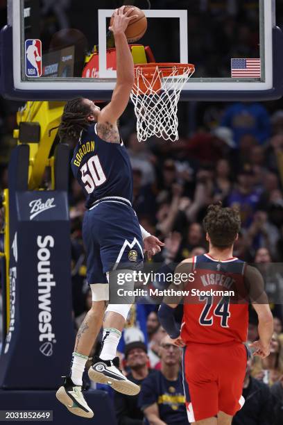
POLYGON ((101 201, 88 210, 83 219, 83 242, 89 284, 108 283, 107 272, 135 268, 144 258, 139 221, 126 203, 101 201))

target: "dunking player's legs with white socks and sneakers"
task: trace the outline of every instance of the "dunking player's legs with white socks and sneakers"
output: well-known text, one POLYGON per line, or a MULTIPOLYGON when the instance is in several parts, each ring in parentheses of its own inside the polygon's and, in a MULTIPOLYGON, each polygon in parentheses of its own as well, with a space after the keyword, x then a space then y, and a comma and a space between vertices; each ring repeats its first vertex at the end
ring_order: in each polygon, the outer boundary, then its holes
MULTIPOLYGON (((95 245, 90 233, 89 238, 85 238, 86 242, 95 245), (92 241, 92 242, 90 242, 92 241)), ((90 247, 90 244, 87 244, 90 247)), ((92 251, 90 249, 89 251, 92 251)), ((94 253, 96 250, 92 251, 94 253)), ((101 268, 102 265, 99 253, 94 256, 88 256, 88 262, 92 261, 93 267, 88 267, 89 274, 92 276, 93 269, 101 268)), ((119 271, 121 273, 121 271, 119 271)), ((130 270, 124 270, 127 274, 130 270)), ((117 280, 117 272, 109 272, 110 282, 117 280)), ((102 278, 102 277, 101 277, 102 278)), ((94 356, 93 365, 89 368, 89 378, 96 383, 105 383, 110 385, 114 390, 123 392, 123 394, 135 395, 139 392, 139 386, 129 381, 119 369, 119 358, 116 356, 117 346, 121 338, 121 331, 126 321, 126 317, 132 305, 133 298, 125 298, 124 304, 110 304, 105 308, 109 299, 109 284, 98 283, 91 284, 92 288, 92 308, 87 313, 83 323, 80 325, 76 335, 74 352, 71 360, 71 374, 65 378, 56 397, 63 403, 67 409, 74 415, 83 417, 93 417, 94 413, 87 405, 83 397, 83 373, 85 364, 89 358, 89 353, 92 350, 93 344, 103 325, 103 347, 100 356, 94 356), (103 322, 103 316, 105 320, 103 322)), ((127 288, 132 288, 132 283, 126 285, 127 288)))

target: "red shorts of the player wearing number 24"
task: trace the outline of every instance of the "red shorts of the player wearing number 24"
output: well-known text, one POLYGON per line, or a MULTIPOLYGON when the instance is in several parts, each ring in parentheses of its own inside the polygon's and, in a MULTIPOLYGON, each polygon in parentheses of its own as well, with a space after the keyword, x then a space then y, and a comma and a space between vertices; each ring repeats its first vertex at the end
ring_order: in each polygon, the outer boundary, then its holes
POLYGON ((247 360, 241 343, 187 344, 183 380, 189 422, 214 417, 220 410, 234 416, 241 409, 247 360))

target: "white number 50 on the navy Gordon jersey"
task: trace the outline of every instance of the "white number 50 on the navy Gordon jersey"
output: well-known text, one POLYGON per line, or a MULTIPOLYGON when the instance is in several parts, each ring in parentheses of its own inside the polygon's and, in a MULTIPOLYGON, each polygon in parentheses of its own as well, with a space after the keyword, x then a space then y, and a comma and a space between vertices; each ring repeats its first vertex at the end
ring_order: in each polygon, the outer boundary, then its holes
POLYGON ((87 193, 92 193, 97 186, 106 181, 106 176, 97 155, 89 158, 87 163, 81 167, 80 172, 82 173, 82 181, 85 183, 87 193))

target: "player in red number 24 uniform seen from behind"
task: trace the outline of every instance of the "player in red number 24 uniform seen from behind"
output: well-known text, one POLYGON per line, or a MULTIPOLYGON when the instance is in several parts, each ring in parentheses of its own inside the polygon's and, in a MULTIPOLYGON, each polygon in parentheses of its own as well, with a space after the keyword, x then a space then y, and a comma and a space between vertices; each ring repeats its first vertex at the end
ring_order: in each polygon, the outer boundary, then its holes
POLYGON ((175 271, 194 274, 194 282, 184 285, 190 291, 184 298, 181 329, 173 315, 180 299, 164 299, 159 317, 173 344, 184 347, 189 422, 230 425, 244 403, 248 300, 259 318, 259 340, 250 347, 261 358, 269 354, 273 317, 261 274, 232 255, 241 226, 239 213, 221 205, 209 206, 204 226, 209 252, 184 260, 175 271))

